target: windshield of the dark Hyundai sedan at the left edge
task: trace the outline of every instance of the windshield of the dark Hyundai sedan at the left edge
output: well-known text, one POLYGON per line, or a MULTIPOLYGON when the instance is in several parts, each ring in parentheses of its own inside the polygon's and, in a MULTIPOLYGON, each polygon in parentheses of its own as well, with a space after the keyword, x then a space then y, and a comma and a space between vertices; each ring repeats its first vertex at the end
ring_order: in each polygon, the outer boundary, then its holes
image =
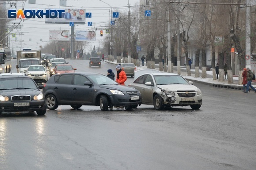
POLYGON ((30 78, 5 78, 0 81, 0 90, 9 89, 37 89, 36 84, 30 78))

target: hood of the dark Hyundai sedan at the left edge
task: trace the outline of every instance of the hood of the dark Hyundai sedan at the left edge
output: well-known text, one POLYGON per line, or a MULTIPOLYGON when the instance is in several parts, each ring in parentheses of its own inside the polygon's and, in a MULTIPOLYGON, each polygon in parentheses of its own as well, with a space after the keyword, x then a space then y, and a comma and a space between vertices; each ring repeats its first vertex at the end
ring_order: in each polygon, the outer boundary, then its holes
POLYGON ((34 96, 34 95, 38 95, 42 93, 41 91, 39 91, 38 89, 13 89, 13 90, 2 90, 0 91, 0 94, 2 96, 16 96, 16 95, 30 95, 30 96, 34 96))

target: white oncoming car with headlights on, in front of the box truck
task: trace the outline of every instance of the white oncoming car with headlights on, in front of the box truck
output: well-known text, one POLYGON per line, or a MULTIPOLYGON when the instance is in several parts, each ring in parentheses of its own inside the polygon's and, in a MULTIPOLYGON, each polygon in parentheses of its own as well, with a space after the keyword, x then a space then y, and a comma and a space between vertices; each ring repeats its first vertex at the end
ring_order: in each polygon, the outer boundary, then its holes
POLYGON ((48 80, 48 69, 45 70, 43 65, 31 65, 25 70, 25 73, 30 76, 37 84, 44 84, 48 80))

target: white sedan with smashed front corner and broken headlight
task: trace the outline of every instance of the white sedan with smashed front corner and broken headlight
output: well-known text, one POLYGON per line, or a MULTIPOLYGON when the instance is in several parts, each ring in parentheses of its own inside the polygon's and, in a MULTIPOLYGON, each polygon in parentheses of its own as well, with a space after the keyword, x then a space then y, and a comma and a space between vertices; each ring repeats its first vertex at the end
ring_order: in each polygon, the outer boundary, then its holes
MULTIPOLYGON (((143 69, 142 69, 143 71, 143 69)), ((202 92, 182 76, 174 73, 144 73, 136 76, 129 86, 140 91, 142 104, 154 105, 156 110, 171 106, 190 106, 200 109, 203 103, 202 92)))

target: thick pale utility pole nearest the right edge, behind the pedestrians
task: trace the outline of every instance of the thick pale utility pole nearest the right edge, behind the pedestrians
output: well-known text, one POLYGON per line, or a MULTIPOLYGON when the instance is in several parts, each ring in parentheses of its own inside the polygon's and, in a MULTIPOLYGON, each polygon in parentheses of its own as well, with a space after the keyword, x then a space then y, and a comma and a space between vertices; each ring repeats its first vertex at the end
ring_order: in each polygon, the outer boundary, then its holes
MULTIPOLYGON (((246 0, 246 22, 245 22, 245 55, 251 57, 251 23, 250 23, 250 0, 246 0)), ((245 59, 245 67, 251 69, 251 59, 245 59)))

